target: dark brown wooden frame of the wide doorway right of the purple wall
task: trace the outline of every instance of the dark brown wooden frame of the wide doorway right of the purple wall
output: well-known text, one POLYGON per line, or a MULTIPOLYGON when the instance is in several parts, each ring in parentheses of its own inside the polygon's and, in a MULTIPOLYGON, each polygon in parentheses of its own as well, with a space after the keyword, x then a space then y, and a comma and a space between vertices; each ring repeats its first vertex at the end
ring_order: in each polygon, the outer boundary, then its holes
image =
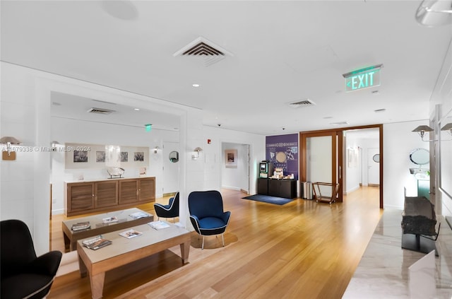
MULTIPOLYGON (((369 124, 367 126, 356 126, 356 127, 343 127, 338 129, 324 129, 324 130, 316 130, 316 131, 300 131, 299 132, 299 148, 300 157, 299 157, 299 170, 300 170, 300 181, 306 181, 307 178, 307 148, 306 148, 306 138, 311 136, 328 136, 335 135, 337 136, 338 146, 333 148, 337 148, 337 153, 333 153, 333 164, 331 177, 338 177, 339 183, 339 191, 338 191, 338 199, 336 201, 343 201, 343 169, 344 169, 344 148, 343 148, 343 131, 353 130, 353 129, 371 129, 377 128, 379 129, 379 148, 380 148, 380 209, 383 209, 383 124, 369 124), (336 159, 337 157, 337 159, 336 159), (338 161, 337 167, 335 160, 338 161)), ((333 143, 335 144, 336 140, 333 139, 333 143)))

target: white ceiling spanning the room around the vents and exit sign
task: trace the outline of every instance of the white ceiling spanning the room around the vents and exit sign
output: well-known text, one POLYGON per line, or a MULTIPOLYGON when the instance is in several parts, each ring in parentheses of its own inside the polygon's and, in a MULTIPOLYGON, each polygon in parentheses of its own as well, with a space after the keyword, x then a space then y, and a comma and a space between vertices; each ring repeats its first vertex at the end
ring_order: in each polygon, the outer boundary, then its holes
MULTIPOLYGON (((263 135, 428 119, 452 25, 418 24, 420 3, 1 1, 1 60, 196 107, 203 124, 263 135), (231 55, 207 67, 173 56, 198 37, 231 55), (345 92, 342 74, 375 64, 381 86, 345 92), (287 105, 305 98, 316 105, 287 105)), ((85 104, 58 110, 77 118, 85 104)), ((177 117, 148 116, 177 126, 177 117)))

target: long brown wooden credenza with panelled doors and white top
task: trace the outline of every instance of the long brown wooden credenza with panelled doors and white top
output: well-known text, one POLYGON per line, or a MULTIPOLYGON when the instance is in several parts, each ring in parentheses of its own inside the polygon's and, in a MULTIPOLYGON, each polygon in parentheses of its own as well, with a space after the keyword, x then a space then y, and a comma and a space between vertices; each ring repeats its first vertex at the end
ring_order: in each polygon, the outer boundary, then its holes
POLYGON ((155 201, 155 177, 64 182, 66 216, 124 209, 155 201))

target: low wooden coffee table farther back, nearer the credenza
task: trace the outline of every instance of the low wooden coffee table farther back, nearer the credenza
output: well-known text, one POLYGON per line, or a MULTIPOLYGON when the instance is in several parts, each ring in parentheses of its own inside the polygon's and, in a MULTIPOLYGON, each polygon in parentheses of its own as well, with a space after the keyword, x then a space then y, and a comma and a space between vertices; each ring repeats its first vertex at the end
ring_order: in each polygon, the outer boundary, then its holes
POLYGON ((96 235, 102 235, 105 233, 112 232, 114 230, 121 230, 123 228, 131 228, 132 226, 141 225, 145 223, 149 223, 150 221, 153 221, 154 216, 150 213, 146 213, 149 216, 133 219, 130 215, 132 213, 137 212, 143 212, 140 209, 126 209, 121 211, 113 211, 109 213, 103 213, 103 214, 97 214, 93 216, 88 217, 82 217, 82 218, 73 218, 68 221, 63 221, 61 223, 61 228, 63 230, 63 237, 64 237, 64 247, 67 251, 73 251, 77 250, 77 240, 86 239, 89 237, 94 237, 96 235), (118 222, 105 224, 102 223, 103 218, 108 218, 112 216, 117 216, 118 222), (85 222, 90 221, 91 228, 88 228, 88 230, 78 230, 78 231, 72 231, 71 227, 74 223, 79 222, 85 222))

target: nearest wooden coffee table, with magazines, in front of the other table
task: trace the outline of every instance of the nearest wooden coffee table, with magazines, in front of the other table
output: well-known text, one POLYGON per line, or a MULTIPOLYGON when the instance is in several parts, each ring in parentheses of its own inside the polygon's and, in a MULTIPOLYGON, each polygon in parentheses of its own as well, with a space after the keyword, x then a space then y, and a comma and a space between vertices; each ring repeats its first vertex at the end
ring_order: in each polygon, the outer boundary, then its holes
POLYGON ((169 223, 169 228, 155 230, 148 224, 133 227, 143 233, 136 238, 127 239, 119 235, 124 230, 117 230, 102 235, 112 241, 112 245, 90 250, 83 247, 82 241, 77 242, 78 263, 81 277, 90 276, 93 299, 102 298, 105 272, 119 266, 135 262, 170 247, 180 245, 182 263, 189 262, 190 232, 185 228, 169 223))

